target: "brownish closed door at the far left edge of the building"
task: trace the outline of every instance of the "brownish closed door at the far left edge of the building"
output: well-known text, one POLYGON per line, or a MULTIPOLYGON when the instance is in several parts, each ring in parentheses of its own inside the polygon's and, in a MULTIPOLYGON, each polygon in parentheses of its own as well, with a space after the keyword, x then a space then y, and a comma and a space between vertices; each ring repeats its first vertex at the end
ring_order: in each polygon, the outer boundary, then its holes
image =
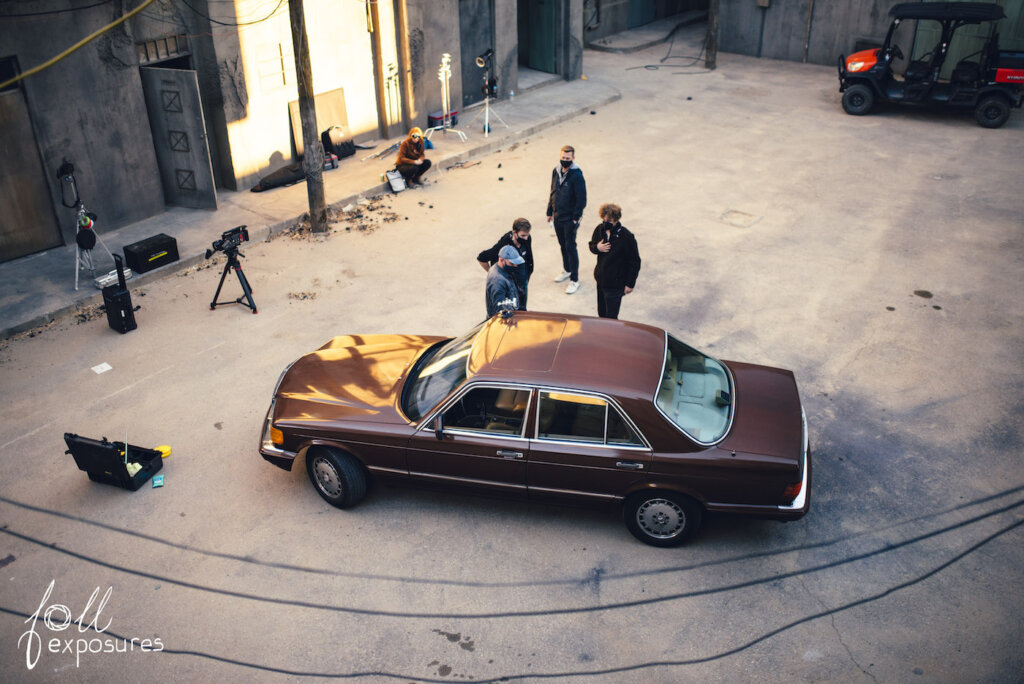
MULTIPOLYGON (((0 92, 0 261, 62 243, 29 109, 19 88, 0 92)), ((74 213, 69 220, 74 223, 74 213)))

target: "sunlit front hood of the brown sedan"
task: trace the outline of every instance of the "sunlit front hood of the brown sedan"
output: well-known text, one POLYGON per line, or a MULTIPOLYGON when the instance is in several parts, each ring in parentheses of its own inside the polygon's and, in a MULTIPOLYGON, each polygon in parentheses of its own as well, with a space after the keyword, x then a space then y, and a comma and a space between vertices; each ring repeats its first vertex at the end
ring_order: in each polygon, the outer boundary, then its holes
POLYGON ((274 399, 276 421, 356 420, 406 423, 398 413, 400 380, 425 348, 444 338, 345 335, 297 361, 274 399))

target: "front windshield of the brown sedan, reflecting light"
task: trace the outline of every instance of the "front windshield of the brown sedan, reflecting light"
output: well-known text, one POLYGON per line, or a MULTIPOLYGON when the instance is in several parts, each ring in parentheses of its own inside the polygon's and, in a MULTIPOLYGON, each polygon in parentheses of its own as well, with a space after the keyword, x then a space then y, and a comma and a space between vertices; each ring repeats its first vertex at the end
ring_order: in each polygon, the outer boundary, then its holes
POLYGON ((482 327, 480 324, 462 337, 433 347, 416 362, 401 399, 401 409, 411 421, 419 422, 466 379, 469 352, 482 327))

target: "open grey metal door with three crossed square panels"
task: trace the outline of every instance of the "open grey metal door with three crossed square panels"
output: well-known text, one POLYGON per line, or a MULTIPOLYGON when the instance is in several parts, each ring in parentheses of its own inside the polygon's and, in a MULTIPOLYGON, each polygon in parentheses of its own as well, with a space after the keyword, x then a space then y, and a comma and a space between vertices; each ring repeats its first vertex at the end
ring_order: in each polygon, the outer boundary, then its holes
POLYGON ((139 73, 165 201, 216 209, 217 189, 196 72, 140 67, 139 73))

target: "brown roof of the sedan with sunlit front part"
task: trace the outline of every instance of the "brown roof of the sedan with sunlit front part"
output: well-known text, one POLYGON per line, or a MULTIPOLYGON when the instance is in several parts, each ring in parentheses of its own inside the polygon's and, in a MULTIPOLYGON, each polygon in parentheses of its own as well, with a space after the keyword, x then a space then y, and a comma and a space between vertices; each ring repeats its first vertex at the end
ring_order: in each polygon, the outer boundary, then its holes
POLYGON ((665 344, 664 330, 643 324, 516 311, 484 325, 468 368, 474 378, 650 398, 662 379, 665 344))

